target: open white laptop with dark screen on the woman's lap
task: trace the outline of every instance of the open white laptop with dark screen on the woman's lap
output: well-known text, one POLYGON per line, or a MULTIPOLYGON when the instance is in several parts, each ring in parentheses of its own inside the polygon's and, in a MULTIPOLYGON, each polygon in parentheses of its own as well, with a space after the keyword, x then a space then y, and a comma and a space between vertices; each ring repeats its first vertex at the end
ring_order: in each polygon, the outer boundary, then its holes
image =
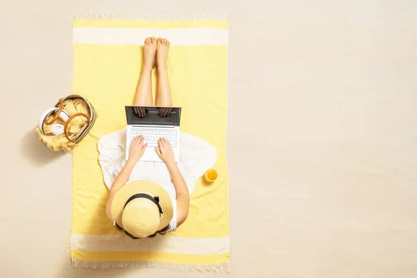
POLYGON ((125 106, 126 131, 126 161, 133 138, 142 135, 147 143, 145 154, 140 161, 162 161, 155 151, 159 147, 159 138, 170 141, 174 150, 175 161, 179 161, 179 122, 180 107, 158 106, 125 106))

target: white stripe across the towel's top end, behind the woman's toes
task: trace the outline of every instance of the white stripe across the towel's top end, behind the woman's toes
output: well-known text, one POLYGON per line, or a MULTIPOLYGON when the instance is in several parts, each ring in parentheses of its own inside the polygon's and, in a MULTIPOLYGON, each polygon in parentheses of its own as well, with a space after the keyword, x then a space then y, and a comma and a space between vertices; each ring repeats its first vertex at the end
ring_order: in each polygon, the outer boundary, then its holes
POLYGON ((220 28, 72 28, 72 42, 84 44, 143 44, 148 37, 167 38, 175 45, 224 45, 229 42, 229 30, 220 28))

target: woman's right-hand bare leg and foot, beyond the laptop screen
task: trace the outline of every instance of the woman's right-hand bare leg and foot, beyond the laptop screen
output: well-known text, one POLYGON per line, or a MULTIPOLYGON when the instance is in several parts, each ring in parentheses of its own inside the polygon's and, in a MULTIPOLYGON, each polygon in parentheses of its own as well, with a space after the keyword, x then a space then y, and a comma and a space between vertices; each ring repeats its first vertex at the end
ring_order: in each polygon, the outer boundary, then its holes
POLYGON ((158 86, 156 90, 156 106, 172 106, 170 79, 167 72, 167 57, 170 42, 158 38, 156 51, 156 67, 158 68, 158 86))

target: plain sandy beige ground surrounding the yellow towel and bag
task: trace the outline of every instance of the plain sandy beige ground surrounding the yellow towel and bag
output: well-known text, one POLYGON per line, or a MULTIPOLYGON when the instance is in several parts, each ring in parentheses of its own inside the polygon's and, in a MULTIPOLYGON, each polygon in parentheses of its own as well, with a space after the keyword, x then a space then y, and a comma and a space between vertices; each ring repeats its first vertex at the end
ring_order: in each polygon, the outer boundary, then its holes
POLYGON ((33 129, 80 11, 229 13, 230 277, 417 277, 417 3, 265 2, 1 1, 0 277, 199 276, 72 269, 71 155, 33 129))

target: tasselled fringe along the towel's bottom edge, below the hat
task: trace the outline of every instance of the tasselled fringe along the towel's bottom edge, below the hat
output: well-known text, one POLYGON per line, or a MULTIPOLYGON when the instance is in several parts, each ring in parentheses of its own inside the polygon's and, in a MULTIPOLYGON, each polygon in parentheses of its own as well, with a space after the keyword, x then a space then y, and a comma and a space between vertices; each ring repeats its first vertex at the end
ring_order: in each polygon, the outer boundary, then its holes
POLYGON ((218 265, 191 265, 163 261, 81 261, 72 259, 73 268, 167 268, 179 272, 229 273, 229 262, 218 265))

